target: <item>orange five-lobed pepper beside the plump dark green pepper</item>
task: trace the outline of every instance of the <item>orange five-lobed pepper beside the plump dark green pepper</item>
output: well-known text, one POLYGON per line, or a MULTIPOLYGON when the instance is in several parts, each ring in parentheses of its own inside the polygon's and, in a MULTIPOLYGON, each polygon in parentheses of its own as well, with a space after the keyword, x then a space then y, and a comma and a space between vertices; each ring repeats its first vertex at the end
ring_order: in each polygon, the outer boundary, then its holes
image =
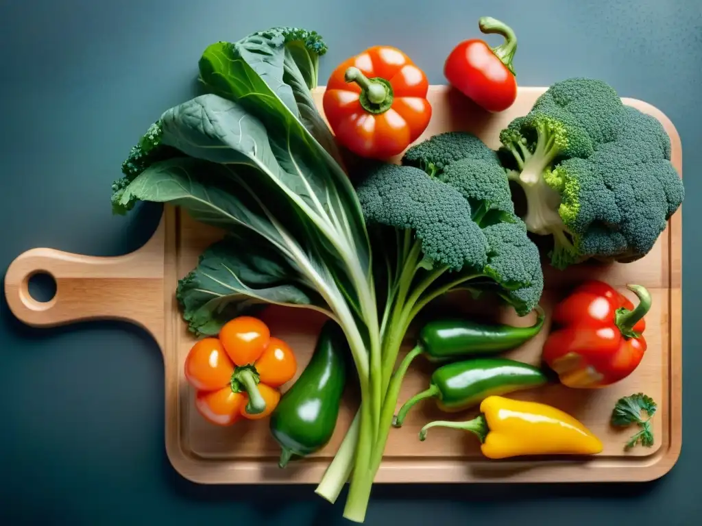
POLYGON ((290 347, 250 316, 227 322, 217 338, 199 340, 185 358, 185 378, 197 390, 195 406, 219 426, 267 417, 280 400, 278 388, 296 370, 290 347))

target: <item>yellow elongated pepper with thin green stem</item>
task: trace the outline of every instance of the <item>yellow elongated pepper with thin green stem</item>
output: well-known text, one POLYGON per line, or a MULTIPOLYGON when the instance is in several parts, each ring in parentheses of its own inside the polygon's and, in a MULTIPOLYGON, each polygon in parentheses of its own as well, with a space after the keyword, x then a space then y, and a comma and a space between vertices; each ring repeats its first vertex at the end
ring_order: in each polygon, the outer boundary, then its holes
POLYGON ((419 433, 425 440, 430 427, 443 426, 475 433, 489 459, 531 454, 597 454, 602 442, 581 422, 550 405, 488 396, 480 414, 468 422, 437 420, 419 433))

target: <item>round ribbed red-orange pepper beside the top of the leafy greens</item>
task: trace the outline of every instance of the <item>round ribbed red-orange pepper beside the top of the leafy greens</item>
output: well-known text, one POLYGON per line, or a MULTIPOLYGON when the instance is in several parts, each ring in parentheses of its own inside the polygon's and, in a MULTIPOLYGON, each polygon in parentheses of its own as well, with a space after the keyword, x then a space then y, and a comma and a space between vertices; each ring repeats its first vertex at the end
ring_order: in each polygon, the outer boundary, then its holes
POLYGON ((373 46, 331 74, 322 97, 336 140, 358 156, 389 159, 428 126, 429 81, 401 50, 373 46))

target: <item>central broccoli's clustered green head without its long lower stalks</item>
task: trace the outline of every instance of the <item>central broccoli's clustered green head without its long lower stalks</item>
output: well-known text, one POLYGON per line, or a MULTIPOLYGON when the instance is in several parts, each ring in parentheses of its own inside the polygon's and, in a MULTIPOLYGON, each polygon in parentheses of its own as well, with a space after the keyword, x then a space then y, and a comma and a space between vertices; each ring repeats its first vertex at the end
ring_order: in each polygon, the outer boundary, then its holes
MULTIPOLYGON (((436 135, 411 147, 400 166, 378 163, 357 195, 369 229, 391 227, 398 238, 420 243, 416 259, 400 248, 389 265, 400 281, 426 274, 418 278, 425 294, 416 297, 458 288, 495 292, 520 316, 541 299, 540 255, 514 213, 507 170, 475 135, 436 135)), ((382 250, 390 251, 387 242, 382 250)))

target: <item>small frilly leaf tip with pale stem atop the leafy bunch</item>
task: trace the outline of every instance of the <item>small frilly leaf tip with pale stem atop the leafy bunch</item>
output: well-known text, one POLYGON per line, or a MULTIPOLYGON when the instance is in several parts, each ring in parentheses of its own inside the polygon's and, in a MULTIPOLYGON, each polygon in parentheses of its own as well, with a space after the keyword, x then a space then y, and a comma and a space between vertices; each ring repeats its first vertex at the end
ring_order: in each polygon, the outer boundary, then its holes
MULTIPOLYGON (((317 88, 319 76, 319 57, 328 50, 324 39, 316 31, 299 27, 272 27, 255 33, 268 39, 283 39, 286 48, 293 55, 300 73, 307 83, 307 88, 317 88)), ((247 36, 246 38, 250 38, 247 36)))

